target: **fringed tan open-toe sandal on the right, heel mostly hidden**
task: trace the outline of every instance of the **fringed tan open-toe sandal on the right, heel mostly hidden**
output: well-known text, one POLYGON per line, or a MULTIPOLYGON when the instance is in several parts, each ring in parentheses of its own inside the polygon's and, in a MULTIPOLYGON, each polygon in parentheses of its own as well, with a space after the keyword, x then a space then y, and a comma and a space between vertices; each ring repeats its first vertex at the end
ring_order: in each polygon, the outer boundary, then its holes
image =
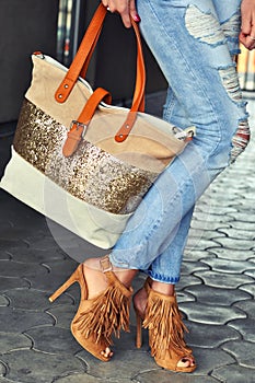
POLYGON ((140 312, 136 305, 137 316, 137 348, 142 345, 141 325, 149 329, 151 356, 157 364, 175 372, 193 372, 196 369, 192 350, 184 341, 186 326, 182 321, 176 297, 170 297, 154 291, 150 287, 149 278, 144 289, 148 293, 146 312, 140 312), (178 362, 193 362, 189 367, 179 367, 178 362))

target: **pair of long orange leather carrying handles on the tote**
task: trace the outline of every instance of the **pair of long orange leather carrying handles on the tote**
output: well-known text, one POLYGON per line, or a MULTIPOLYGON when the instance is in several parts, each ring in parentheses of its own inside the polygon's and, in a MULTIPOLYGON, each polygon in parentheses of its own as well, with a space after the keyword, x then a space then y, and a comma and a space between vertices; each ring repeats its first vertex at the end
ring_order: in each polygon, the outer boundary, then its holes
MULTIPOLYGON (((58 103, 65 103, 76 82, 78 81, 78 78, 81 74, 84 77, 91 56, 100 37, 106 13, 106 8, 101 3, 94 13, 94 16, 86 30, 86 33, 67 74, 56 91, 55 98, 58 103)), ((137 112, 144 112, 146 68, 142 55, 141 38, 139 27, 132 19, 131 24, 137 40, 137 76, 130 112, 115 136, 115 140, 118 142, 123 142, 128 137, 128 134, 135 124, 137 112)))

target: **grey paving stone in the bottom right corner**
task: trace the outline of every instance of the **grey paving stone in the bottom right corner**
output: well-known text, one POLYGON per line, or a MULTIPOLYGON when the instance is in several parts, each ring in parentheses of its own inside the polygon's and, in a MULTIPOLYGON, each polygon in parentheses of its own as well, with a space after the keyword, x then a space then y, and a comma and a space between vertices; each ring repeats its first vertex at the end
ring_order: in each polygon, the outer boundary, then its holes
POLYGON ((254 370, 235 364, 215 370, 212 376, 225 383, 254 383, 254 370))

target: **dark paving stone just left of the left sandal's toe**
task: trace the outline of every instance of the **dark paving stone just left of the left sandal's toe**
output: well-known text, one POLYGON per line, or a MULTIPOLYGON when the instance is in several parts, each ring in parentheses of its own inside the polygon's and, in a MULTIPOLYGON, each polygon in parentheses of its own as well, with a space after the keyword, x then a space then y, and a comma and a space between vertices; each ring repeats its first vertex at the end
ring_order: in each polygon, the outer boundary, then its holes
POLYGON ((31 328, 24 334, 33 339, 33 349, 35 351, 74 355, 82 349, 73 338, 70 329, 56 326, 40 326, 31 328))

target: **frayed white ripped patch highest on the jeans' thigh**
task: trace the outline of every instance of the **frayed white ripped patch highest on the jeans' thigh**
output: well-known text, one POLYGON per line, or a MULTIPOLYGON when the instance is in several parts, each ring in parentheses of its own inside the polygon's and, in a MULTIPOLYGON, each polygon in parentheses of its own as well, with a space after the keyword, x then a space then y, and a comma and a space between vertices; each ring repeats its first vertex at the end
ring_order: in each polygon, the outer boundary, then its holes
POLYGON ((188 5, 185 25, 188 33, 201 43, 212 46, 225 43, 220 23, 211 12, 202 12, 196 5, 188 5))

